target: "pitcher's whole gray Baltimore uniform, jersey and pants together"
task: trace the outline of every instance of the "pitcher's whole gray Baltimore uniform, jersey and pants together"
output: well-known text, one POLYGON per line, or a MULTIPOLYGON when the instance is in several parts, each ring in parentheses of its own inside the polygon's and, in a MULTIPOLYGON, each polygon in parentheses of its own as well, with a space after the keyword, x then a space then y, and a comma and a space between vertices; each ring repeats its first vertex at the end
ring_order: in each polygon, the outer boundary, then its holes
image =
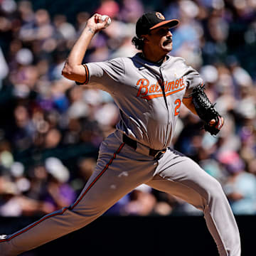
POLYGON ((157 65, 117 58, 85 65, 86 83, 110 92, 120 109, 117 129, 100 146, 97 166, 72 206, 46 215, 0 240, 1 255, 17 255, 78 230, 141 183, 203 210, 221 256, 240 255, 240 235, 220 183, 171 149, 183 97, 202 84, 182 58, 157 65))

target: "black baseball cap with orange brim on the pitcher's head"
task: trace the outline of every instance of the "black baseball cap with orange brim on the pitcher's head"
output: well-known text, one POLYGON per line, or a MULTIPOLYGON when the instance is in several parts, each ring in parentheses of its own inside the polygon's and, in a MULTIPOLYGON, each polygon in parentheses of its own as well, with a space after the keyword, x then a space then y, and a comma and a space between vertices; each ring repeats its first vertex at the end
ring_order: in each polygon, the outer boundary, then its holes
POLYGON ((150 11, 143 14, 136 23, 136 35, 138 37, 148 34, 152 29, 168 25, 169 28, 177 26, 177 19, 166 20, 163 14, 158 11, 150 11))

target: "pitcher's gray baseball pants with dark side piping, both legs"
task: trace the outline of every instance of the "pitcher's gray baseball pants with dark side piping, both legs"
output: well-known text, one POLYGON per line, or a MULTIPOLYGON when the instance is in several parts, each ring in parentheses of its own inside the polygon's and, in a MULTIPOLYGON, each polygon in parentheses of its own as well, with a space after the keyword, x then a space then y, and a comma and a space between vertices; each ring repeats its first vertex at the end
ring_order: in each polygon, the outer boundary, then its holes
POLYGON ((240 256, 238 226, 220 183, 173 149, 159 160, 140 144, 135 151, 118 131, 102 142, 95 172, 77 201, 0 240, 0 255, 18 255, 84 227, 142 183, 203 210, 220 256, 240 256))

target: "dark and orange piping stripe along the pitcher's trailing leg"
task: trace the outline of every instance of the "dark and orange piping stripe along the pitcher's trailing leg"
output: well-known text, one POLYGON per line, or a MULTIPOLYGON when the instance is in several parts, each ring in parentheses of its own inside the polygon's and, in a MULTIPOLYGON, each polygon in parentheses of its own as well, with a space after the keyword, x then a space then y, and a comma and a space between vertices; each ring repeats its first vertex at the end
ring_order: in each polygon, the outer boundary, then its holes
POLYGON ((75 208, 75 206, 78 205, 78 203, 82 200, 82 198, 85 196, 85 194, 90 190, 90 188, 92 188, 92 186, 95 184, 95 182, 100 178, 100 176, 102 176, 102 174, 105 173, 105 171, 108 169, 108 167, 110 166, 110 164, 112 164, 112 161, 117 157, 117 154, 119 154, 119 152, 121 151, 122 147, 124 146, 124 143, 122 143, 119 146, 119 149, 117 149, 117 151, 114 153, 112 159, 110 159, 110 161, 107 163, 107 165, 105 166, 105 168, 100 172, 100 174, 98 174, 98 176, 92 181, 92 183, 90 183, 90 186, 88 186, 88 188, 85 190, 85 192, 82 194, 82 196, 80 196, 80 198, 78 198, 78 200, 74 203, 74 205, 72 207, 65 207, 63 208, 63 210, 60 213, 53 213, 51 215, 46 215, 45 217, 41 218, 40 220, 38 220, 36 223, 31 224, 28 228, 26 228, 25 230, 22 230, 21 232, 13 235, 11 238, 6 238, 3 240, 0 240, 0 242, 6 242, 9 241, 13 238, 16 238, 16 236, 21 235, 23 233, 25 233, 26 231, 30 230, 31 228, 33 228, 35 225, 38 225, 39 223, 43 222, 43 220, 46 220, 50 217, 53 217, 55 215, 62 215, 63 213, 65 213, 66 210, 68 210, 68 208, 70 210, 73 210, 73 208, 75 208))

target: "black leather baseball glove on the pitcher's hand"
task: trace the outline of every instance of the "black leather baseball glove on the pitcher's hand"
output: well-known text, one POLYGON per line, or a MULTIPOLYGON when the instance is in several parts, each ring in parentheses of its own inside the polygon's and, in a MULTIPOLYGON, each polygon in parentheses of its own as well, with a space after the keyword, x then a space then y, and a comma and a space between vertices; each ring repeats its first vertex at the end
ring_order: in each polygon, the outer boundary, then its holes
POLYGON ((193 89, 193 105, 195 106, 198 117, 205 122, 204 129, 210 132, 211 135, 216 135, 220 132, 221 127, 223 127, 224 119, 215 110, 214 105, 210 103, 204 90, 204 86, 201 85, 193 89))

